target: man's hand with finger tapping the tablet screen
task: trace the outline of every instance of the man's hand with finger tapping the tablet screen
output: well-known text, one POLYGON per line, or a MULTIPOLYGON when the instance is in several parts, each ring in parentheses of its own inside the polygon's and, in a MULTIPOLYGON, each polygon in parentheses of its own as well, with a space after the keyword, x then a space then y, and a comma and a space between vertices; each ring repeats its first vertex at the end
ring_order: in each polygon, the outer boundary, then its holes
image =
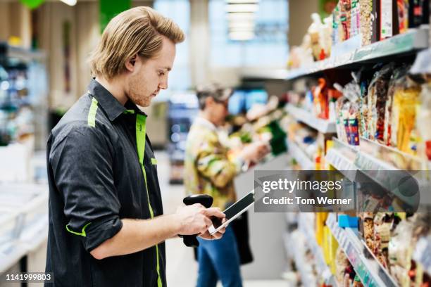
POLYGON ((179 224, 178 234, 205 234, 208 227, 211 227, 213 224, 210 219, 212 216, 220 219, 225 218, 225 214, 220 209, 204 208, 199 203, 178 208, 177 212, 175 212, 175 217, 179 224))

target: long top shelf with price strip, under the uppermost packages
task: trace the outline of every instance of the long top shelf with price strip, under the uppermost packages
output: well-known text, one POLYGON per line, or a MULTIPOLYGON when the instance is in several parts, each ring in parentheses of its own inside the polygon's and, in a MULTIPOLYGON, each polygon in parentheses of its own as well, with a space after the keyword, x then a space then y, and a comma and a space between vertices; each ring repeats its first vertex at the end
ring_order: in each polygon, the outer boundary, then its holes
POLYGON ((290 70, 287 72, 286 79, 295 79, 306 75, 313 75, 317 72, 330 70, 333 68, 346 67, 352 64, 367 61, 378 61, 392 55, 411 53, 428 47, 428 29, 412 29, 405 34, 399 34, 392 38, 380 42, 363 46, 350 53, 337 55, 336 57, 320 60, 304 68, 290 70))

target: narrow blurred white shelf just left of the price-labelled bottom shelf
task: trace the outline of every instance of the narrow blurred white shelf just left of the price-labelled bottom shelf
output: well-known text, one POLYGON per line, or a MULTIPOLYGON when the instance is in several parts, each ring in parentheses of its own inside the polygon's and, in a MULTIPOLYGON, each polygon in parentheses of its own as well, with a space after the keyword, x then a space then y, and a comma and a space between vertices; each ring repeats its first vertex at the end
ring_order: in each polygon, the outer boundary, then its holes
POLYGON ((307 220, 306 218, 307 215, 308 213, 299 213, 299 230, 304 234, 306 238, 306 244, 308 245, 308 248, 310 248, 311 253, 313 253, 314 257, 316 258, 316 267, 320 276, 322 276, 326 282, 330 282, 331 280, 333 281, 332 273, 325 262, 322 249, 316 241, 316 236, 314 235, 313 229, 311 229, 312 225, 310 224, 310 220, 307 220))

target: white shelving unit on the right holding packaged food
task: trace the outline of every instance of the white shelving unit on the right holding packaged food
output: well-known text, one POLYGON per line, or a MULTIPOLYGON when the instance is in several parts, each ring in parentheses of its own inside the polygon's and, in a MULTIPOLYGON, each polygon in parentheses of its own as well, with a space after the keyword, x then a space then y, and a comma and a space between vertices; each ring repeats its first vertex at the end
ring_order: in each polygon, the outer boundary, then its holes
MULTIPOLYGON (((415 55, 416 61, 410 72, 413 74, 430 73, 431 48, 429 32, 427 26, 422 26, 417 29, 408 30, 405 34, 399 34, 384 41, 350 51, 344 50, 342 52, 341 49, 338 49, 339 47, 332 47, 332 51, 334 52, 332 53, 332 57, 320 60, 306 67, 289 70, 287 71, 285 80, 290 83, 300 77, 320 77, 325 75, 325 72, 328 70, 332 70, 331 72, 337 69, 344 72, 347 70, 358 70, 358 68, 361 68, 361 65, 388 63, 394 60, 394 57, 404 57, 411 60, 415 55)), ((320 119, 307 110, 298 108, 292 104, 287 105, 285 110, 295 120, 323 134, 325 139, 328 139, 331 134, 336 134, 337 132, 335 122, 320 119)), ((359 173, 365 173, 371 179, 377 180, 381 178, 382 172, 387 171, 431 170, 431 162, 375 141, 361 138, 360 146, 350 146, 337 138, 333 138, 332 140, 334 141, 334 145, 327 150, 325 161, 329 162, 330 165, 342 172, 351 181, 358 180, 357 176, 359 173)), ((289 155, 299 162, 302 170, 314 170, 312 160, 308 158, 298 144, 292 140, 287 140, 287 144, 289 155)), ((399 191, 395 190, 393 193, 403 200, 403 196, 399 191)), ((423 200, 426 201, 428 198, 421 197, 420 200, 421 203, 424 203, 423 200)), ((429 204, 431 206, 431 200, 429 204)), ((389 271, 380 264, 366 243, 358 237, 356 229, 340 228, 335 213, 330 213, 326 225, 337 239, 340 248, 344 250, 346 257, 348 257, 364 286, 398 286, 394 278, 389 274, 389 271)), ((309 220, 307 222, 305 216, 302 214, 299 214, 298 217, 298 231, 304 234, 304 238, 299 238, 299 240, 304 240, 313 253, 318 272, 326 281, 329 281, 334 276, 330 274, 325 260, 321 256, 322 250, 317 245, 316 238, 313 236, 312 224, 310 224, 309 220)), ((430 250, 430 248, 431 238, 420 238, 416 246, 415 255, 413 256, 413 259, 420 262, 428 273, 431 273, 431 256, 425 250, 430 250)), ((291 249, 293 248, 291 247, 291 249)), ((298 250, 291 250, 291 252, 296 264, 304 264, 304 255, 299 254, 298 250)), ((299 274, 303 279, 304 286, 308 286, 306 284, 313 282, 311 282, 311 279, 308 279, 307 274, 303 275, 304 272, 306 272, 304 268, 299 268, 299 274)))

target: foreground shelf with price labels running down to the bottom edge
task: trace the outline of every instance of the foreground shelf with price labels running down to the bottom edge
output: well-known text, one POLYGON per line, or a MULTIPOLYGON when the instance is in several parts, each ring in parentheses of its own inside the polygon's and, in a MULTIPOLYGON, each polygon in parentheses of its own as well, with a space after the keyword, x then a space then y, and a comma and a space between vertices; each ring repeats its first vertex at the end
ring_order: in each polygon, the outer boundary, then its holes
POLYGON ((373 253, 367 248, 366 243, 361 241, 352 229, 342 229, 338 226, 335 213, 329 214, 326 225, 337 239, 339 246, 346 253, 364 286, 398 286, 387 269, 382 267, 380 262, 375 259, 373 253))

